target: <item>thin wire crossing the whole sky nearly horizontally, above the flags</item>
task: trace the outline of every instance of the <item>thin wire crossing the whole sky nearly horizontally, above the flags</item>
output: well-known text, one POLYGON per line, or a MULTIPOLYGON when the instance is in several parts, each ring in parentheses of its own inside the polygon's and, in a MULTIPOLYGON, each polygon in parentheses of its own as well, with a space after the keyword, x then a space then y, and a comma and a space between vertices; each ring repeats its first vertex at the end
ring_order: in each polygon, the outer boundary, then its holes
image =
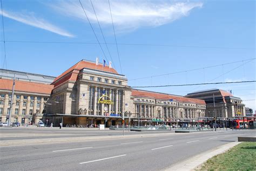
MULTIPOLYGON (((0 40, 3 41, 3 40, 0 40)), ((42 44, 98 44, 98 42, 76 42, 76 41, 18 41, 5 40, 6 42, 21 42, 21 43, 42 43, 42 44)), ((100 43, 103 44, 103 43, 100 43)), ((163 47, 185 47, 185 48, 215 48, 215 49, 244 49, 255 50, 256 48, 242 47, 211 47, 211 46, 185 46, 185 45, 164 45, 164 44, 127 44, 127 43, 107 43, 107 45, 123 45, 123 46, 163 46, 163 47)))

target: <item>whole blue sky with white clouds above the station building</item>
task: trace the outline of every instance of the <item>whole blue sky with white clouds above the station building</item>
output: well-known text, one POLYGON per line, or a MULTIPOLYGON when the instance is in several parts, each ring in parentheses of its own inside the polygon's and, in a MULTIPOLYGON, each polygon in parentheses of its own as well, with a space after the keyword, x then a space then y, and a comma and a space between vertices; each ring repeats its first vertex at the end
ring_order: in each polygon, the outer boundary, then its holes
MULTIPOLYGON (((107 60, 121 73, 108 1, 81 0, 107 60)), ((81 59, 103 61, 97 39, 79 1, 2 0, 6 46, 4 68, 58 76, 81 59), (94 44, 10 41, 86 42, 94 44)), ((130 86, 156 86, 255 80, 255 1, 114 1, 110 0, 120 63, 130 86), (154 44, 171 46, 138 46, 154 44), (207 48, 206 48, 207 47, 207 48), (242 60, 245 60, 242 62, 242 60), (241 61, 230 65, 223 63, 241 61), (196 68, 221 65, 179 74, 196 68), (137 79, 150 77, 149 79, 137 79), (216 79, 215 79, 216 78, 216 79), (134 80, 136 79, 136 80, 134 80)), ((1 11, 2 15, 2 11, 1 11)), ((1 68, 4 61, 0 26, 1 68)), ((186 95, 221 88, 255 108, 255 83, 146 88, 186 95), (249 100, 249 101, 247 101, 249 100)))

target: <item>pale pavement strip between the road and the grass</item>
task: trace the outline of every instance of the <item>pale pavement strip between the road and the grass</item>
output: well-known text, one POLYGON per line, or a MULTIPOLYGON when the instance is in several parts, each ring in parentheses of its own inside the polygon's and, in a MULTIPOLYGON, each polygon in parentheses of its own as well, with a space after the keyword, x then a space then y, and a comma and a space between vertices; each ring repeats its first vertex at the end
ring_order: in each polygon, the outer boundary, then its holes
POLYGON ((215 149, 211 149, 204 153, 200 153, 196 156, 193 156, 190 159, 181 161, 175 165, 172 165, 169 168, 166 168, 165 171, 171 170, 178 170, 178 171, 188 171, 188 170, 195 170, 197 167, 202 165, 208 159, 212 158, 215 155, 221 154, 226 152, 228 149, 240 144, 241 142, 232 142, 225 144, 223 146, 216 147, 215 149))

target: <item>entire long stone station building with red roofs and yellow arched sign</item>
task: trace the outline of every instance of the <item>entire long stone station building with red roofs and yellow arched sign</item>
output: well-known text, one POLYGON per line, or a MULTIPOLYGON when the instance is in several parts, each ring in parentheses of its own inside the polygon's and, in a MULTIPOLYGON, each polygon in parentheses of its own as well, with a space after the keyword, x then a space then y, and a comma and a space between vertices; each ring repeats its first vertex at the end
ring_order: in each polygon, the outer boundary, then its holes
POLYGON ((214 109, 219 118, 245 116, 241 99, 224 90, 199 91, 184 97, 132 89, 126 77, 113 68, 86 60, 79 61, 58 77, 11 70, 5 73, 12 75, 1 78, 2 122, 9 116, 14 73, 18 75, 11 113, 14 122, 37 123, 43 119, 55 126, 61 122, 64 125, 111 126, 121 125, 120 115, 124 115, 125 124, 173 124, 214 117, 214 109))

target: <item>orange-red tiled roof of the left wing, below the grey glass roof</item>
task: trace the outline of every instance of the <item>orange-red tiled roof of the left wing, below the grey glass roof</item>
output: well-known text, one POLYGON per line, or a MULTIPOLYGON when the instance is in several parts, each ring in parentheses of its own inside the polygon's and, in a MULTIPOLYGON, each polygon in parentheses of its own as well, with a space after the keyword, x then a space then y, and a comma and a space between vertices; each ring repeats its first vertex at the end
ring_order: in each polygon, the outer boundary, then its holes
MULTIPOLYGON (((12 90, 13 80, 9 79, 0 79, 0 89, 2 90, 12 90)), ((35 82, 26 82, 26 81, 15 81, 15 91, 23 92, 33 92, 39 94, 51 94, 53 85, 35 83, 35 82)))

